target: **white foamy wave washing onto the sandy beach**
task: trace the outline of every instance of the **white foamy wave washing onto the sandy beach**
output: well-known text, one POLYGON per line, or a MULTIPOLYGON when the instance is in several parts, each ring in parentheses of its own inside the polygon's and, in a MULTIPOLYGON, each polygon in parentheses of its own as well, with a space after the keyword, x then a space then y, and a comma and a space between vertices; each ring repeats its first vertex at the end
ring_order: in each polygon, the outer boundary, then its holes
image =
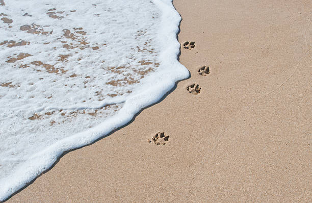
POLYGON ((0 200, 189 76, 171 0, 9 0, 0 15, 0 200))

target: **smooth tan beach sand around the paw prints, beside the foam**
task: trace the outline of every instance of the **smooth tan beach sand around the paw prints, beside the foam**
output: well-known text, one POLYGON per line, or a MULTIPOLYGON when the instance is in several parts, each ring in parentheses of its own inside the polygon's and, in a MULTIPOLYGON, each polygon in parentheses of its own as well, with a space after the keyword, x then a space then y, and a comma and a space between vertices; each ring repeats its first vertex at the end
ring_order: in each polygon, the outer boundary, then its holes
POLYGON ((191 78, 8 202, 312 201, 312 2, 174 6, 191 78), (168 141, 148 142, 159 131, 168 141))

